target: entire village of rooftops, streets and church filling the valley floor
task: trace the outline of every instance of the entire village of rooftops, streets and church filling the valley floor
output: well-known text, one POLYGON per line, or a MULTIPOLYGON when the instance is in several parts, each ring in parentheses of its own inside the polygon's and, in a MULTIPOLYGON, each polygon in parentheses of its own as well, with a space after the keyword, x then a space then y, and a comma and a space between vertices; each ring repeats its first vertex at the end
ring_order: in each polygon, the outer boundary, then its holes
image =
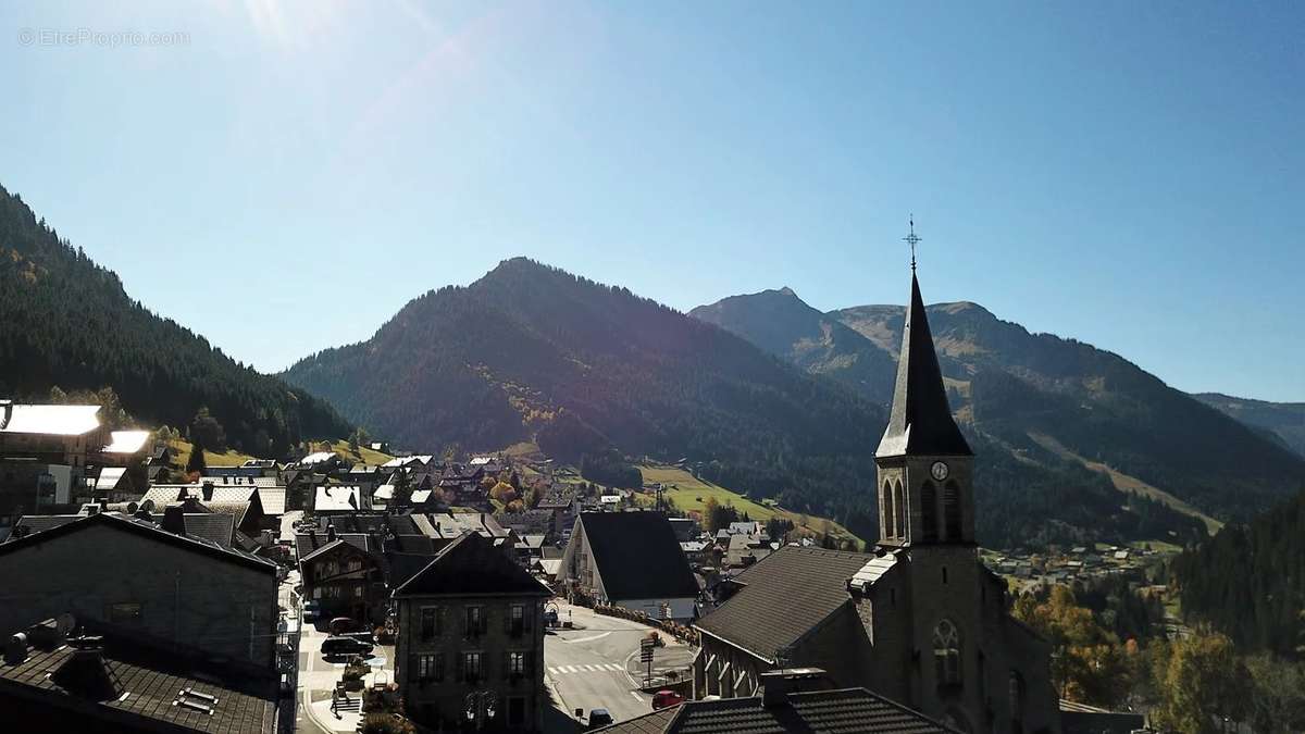
POLYGON ((98 405, 0 402, 0 700, 20 720, 130 731, 354 731, 377 716, 649 731, 675 712, 810 717, 817 701, 889 707, 919 731, 1142 726, 1083 701, 1009 614, 1053 586, 1121 584, 1154 599, 1143 624, 1181 636, 1158 581, 1177 549, 976 552, 971 452, 914 287, 874 542, 686 464, 621 487, 530 444, 458 457, 360 435, 256 458, 108 430, 98 405), (932 479, 903 494, 917 471, 932 479), (971 607, 949 568, 994 601, 971 607), (915 605, 951 611, 917 628, 915 605), (910 662, 921 649, 928 666, 910 662), (976 695, 989 687, 1010 695, 976 695))

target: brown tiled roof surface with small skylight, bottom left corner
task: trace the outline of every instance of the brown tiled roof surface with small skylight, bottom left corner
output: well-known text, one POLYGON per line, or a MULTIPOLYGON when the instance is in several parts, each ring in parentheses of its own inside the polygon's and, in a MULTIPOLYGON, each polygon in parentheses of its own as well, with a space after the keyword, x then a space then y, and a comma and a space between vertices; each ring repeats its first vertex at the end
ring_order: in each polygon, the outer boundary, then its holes
MULTIPOLYGON (((273 731, 277 695, 270 683, 244 680, 213 683, 211 670, 205 670, 201 680, 163 656, 142 656, 138 652, 119 656, 110 648, 103 653, 103 665, 110 673, 110 680, 114 682, 114 692, 127 695, 99 703, 63 688, 56 682, 59 675, 48 675, 63 669, 74 652, 69 645, 54 650, 30 648, 27 658, 17 665, 8 665, 0 660, 0 691, 38 700, 44 708, 72 708, 78 713, 90 712, 90 716, 111 721, 127 721, 132 730, 153 730, 159 727, 159 724, 154 722, 166 722, 183 731, 211 734, 273 731), (183 690, 215 697, 213 714, 175 705, 183 690), (150 722, 144 722, 142 718, 150 722)), ((210 703, 198 697, 191 700, 204 705, 210 703)), ((114 726, 108 727, 116 730, 114 726)))

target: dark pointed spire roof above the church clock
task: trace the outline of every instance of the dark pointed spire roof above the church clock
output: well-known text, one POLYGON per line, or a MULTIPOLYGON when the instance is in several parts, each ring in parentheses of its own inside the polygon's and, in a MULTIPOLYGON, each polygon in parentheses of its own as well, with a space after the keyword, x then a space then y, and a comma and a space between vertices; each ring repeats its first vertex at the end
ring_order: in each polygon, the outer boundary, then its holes
POLYGON ((920 282, 911 274, 911 304, 902 325, 902 355, 898 359, 893 413, 876 456, 974 456, 951 418, 942 370, 933 350, 933 334, 920 296, 920 282))

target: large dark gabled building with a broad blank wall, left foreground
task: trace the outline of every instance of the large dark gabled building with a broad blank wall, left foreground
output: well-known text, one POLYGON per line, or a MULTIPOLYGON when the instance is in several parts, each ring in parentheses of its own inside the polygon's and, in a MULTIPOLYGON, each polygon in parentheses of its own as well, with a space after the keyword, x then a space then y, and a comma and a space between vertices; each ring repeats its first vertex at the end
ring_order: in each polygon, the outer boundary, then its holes
POLYGON ((0 545, 0 630, 70 613, 177 654, 274 665, 277 564, 116 513, 0 545))

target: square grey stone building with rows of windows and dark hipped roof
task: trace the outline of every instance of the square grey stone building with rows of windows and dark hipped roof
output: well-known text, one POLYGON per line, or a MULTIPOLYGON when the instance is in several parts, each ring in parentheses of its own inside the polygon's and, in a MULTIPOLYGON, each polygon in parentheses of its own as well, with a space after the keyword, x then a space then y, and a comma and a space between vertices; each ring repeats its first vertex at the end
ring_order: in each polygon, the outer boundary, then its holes
POLYGON ((399 692, 436 730, 539 731, 547 586, 466 533, 394 589, 399 692))

